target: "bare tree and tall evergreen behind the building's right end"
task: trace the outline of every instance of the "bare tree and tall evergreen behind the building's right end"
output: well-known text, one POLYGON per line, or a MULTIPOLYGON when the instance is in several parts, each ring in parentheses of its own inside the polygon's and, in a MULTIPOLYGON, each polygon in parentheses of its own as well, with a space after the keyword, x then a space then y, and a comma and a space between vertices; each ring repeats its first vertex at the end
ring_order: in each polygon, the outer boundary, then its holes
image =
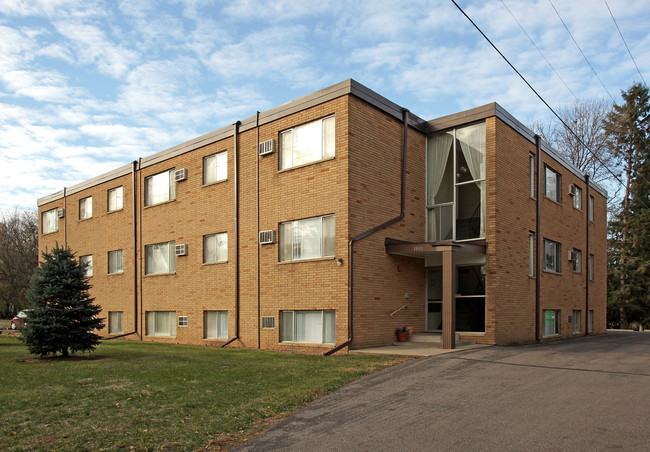
POLYGON ((650 95, 640 83, 621 94, 615 105, 576 100, 558 109, 564 124, 531 128, 609 190, 608 326, 650 328, 650 95))

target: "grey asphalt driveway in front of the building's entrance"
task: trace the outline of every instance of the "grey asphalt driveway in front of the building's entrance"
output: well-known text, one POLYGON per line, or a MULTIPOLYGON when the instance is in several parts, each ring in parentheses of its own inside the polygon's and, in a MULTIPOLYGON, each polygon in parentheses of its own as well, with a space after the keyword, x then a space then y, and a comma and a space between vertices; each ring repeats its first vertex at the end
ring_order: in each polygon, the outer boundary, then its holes
POLYGON ((421 358, 336 391, 240 451, 649 450, 650 333, 421 358))

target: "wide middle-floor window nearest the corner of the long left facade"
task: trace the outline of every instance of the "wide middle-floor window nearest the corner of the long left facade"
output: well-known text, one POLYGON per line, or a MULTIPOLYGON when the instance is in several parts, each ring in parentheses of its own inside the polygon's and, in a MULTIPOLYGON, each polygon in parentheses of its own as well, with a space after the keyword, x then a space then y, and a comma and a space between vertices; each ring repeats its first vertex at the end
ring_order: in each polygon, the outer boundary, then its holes
POLYGON ((334 256, 334 215, 280 224, 280 261, 334 256))

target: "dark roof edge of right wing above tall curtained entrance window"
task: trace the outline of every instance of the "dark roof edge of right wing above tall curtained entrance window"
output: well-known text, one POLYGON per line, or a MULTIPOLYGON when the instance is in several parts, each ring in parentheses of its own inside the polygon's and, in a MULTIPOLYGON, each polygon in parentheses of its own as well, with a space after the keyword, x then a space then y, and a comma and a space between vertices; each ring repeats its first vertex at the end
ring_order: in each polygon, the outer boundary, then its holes
MULTIPOLYGON (((519 133, 531 143, 535 143, 535 132, 519 122, 519 120, 508 113, 505 108, 496 102, 427 121, 427 130, 429 133, 438 132, 450 129, 452 127, 458 127, 469 122, 480 121, 491 116, 496 116, 508 124, 508 126, 513 128, 515 132, 519 133)), ((542 140, 541 146, 542 151, 546 152, 546 154, 548 154, 550 157, 557 160, 562 166, 571 171, 577 177, 584 180, 585 174, 580 171, 573 163, 567 160, 566 157, 560 155, 559 152, 553 149, 549 143, 542 140)), ((594 181, 590 181, 589 186, 607 198, 607 190, 605 190, 605 188, 603 188, 600 184, 594 181)))

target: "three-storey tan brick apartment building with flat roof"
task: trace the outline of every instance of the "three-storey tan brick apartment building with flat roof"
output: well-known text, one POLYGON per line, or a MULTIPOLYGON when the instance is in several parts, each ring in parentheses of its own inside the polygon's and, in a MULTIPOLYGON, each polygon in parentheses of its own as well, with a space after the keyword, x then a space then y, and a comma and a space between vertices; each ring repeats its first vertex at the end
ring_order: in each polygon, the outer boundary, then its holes
POLYGON ((606 192, 496 103, 347 80, 38 200, 126 339, 324 353, 606 328, 606 192))

